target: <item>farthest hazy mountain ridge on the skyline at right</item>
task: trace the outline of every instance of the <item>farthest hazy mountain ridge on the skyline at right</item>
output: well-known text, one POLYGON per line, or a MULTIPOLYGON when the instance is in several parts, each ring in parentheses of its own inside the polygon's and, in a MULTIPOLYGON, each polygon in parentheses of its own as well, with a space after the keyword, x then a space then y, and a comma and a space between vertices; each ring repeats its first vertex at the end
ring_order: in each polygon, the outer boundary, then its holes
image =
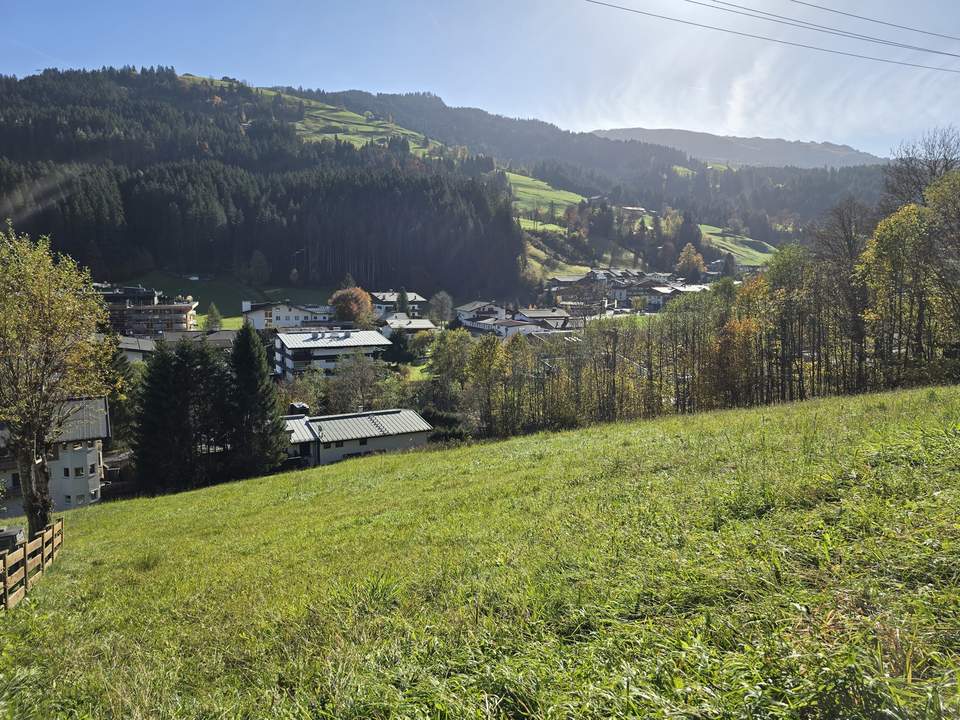
POLYGON ((885 160, 848 145, 776 138, 711 135, 691 130, 618 128, 597 130, 609 140, 636 140, 676 148, 704 162, 761 167, 852 167, 878 165, 885 160))

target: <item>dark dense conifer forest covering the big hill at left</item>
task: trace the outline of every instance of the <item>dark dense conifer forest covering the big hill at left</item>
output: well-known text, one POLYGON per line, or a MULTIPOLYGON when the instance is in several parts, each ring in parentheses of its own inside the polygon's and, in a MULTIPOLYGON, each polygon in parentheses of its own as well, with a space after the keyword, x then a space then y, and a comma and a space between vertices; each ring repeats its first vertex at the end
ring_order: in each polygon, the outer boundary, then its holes
POLYGON ((172 68, 0 78, 0 217, 99 277, 153 268, 376 286, 514 289, 505 183, 392 138, 304 142, 307 108, 172 68))

